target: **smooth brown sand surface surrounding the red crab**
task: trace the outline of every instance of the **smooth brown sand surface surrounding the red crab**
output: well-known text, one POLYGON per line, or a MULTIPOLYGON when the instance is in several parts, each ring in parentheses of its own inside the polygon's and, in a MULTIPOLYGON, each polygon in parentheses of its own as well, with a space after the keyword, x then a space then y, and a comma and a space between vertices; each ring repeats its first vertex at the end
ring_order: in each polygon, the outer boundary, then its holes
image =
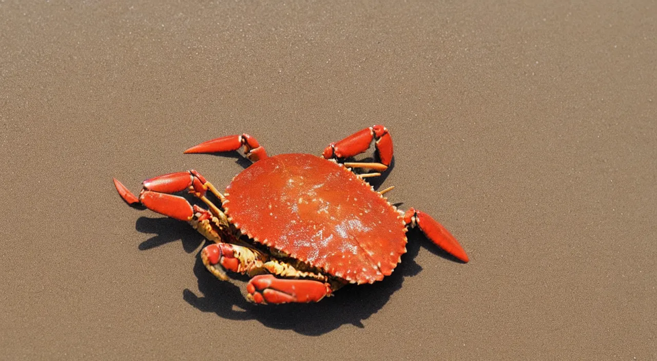
POLYGON ((0 358, 657 359, 652 1, 107 3, 0 2, 0 358), (254 307, 112 186, 375 123, 470 263, 412 232, 383 282, 254 307))

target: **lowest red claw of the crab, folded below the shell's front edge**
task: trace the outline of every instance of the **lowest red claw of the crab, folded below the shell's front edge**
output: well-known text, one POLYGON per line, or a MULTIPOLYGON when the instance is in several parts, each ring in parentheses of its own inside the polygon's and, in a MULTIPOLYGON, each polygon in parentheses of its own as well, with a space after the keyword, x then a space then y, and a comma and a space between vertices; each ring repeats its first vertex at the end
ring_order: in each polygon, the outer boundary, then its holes
POLYGON ((289 280, 263 274, 251 278, 246 291, 255 303, 307 303, 318 302, 330 296, 332 287, 327 282, 289 280))

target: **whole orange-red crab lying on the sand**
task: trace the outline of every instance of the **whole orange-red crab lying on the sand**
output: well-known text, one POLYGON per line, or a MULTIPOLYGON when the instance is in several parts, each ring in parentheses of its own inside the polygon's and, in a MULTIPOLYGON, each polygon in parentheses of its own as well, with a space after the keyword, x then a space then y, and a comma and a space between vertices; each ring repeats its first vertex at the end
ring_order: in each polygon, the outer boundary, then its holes
POLYGON ((253 164, 221 194, 197 171, 161 175, 143 182, 139 197, 121 182, 125 202, 141 204, 186 221, 212 243, 200 252, 219 280, 226 271, 250 276, 246 298, 255 303, 307 303, 346 284, 372 284, 392 274, 406 252, 406 232, 418 227, 434 244, 468 262, 463 247, 430 215, 401 211, 366 181, 392 161, 392 138, 382 125, 367 127, 329 144, 321 156, 267 156, 247 134, 202 142, 190 153, 233 152, 244 147, 253 164), (374 140, 380 162, 346 162, 374 140), (185 192, 208 208, 174 195, 185 192), (212 194, 220 203, 208 198, 212 194))

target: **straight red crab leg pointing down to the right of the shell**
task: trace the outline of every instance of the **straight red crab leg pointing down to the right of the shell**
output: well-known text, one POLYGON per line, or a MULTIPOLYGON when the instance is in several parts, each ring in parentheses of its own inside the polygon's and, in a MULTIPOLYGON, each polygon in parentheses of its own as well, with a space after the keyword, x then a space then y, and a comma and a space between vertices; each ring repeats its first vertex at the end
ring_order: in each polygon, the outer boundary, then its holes
POLYGON ((438 247, 444 249, 450 255, 453 255, 463 262, 470 261, 463 247, 459 244, 459 241, 457 241, 456 238, 454 238, 454 236, 442 226, 442 224, 438 223, 430 215, 411 208, 404 214, 404 222, 407 226, 419 226, 426 238, 431 240, 431 242, 434 242, 438 247))

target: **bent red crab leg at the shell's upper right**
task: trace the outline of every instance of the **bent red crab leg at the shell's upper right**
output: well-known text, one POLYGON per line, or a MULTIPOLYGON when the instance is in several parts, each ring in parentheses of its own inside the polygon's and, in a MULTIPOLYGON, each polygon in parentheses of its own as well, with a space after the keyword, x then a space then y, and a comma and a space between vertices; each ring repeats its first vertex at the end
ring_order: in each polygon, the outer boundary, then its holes
POLYGON ((373 139, 376 139, 376 150, 384 165, 392 161, 392 137, 383 125, 374 125, 353 133, 339 142, 332 142, 324 149, 322 156, 328 158, 349 158, 361 154, 369 148, 373 139))

